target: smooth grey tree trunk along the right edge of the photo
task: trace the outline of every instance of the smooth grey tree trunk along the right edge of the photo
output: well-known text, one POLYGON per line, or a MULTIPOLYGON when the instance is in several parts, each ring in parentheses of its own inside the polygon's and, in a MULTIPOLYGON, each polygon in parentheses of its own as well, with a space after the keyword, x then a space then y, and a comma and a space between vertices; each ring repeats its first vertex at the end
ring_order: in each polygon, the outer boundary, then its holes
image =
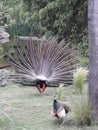
POLYGON ((88 0, 89 101, 92 117, 98 120, 98 0, 88 0))

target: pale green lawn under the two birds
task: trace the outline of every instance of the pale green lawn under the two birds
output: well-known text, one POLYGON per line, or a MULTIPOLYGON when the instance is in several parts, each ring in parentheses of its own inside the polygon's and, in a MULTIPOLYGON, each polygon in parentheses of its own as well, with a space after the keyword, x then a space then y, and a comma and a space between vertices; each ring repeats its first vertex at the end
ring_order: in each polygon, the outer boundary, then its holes
MULTIPOLYGON (((39 94, 35 87, 13 85, 0 88, 0 130, 97 130, 97 126, 79 127, 74 123, 73 104, 79 94, 73 88, 62 88, 62 101, 71 107, 64 125, 51 116, 57 88, 48 87, 39 94)), ((85 95, 85 93, 84 93, 85 95)))

